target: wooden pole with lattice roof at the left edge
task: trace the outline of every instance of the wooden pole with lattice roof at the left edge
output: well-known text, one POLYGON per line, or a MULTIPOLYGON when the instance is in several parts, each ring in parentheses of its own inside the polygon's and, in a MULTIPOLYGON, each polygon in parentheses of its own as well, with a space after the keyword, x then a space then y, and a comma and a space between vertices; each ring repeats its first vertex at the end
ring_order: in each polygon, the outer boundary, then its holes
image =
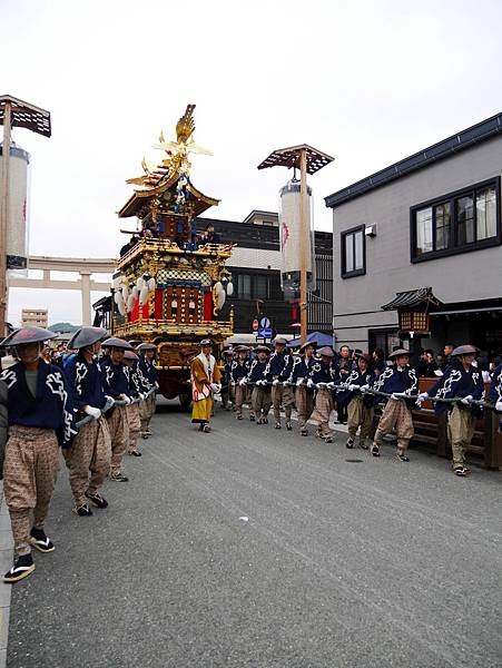
POLYGON ((0 96, 0 125, 3 125, 2 178, 0 181, 0 335, 7 320, 7 225, 9 220, 10 136, 14 127, 50 137, 50 112, 10 95, 0 96))

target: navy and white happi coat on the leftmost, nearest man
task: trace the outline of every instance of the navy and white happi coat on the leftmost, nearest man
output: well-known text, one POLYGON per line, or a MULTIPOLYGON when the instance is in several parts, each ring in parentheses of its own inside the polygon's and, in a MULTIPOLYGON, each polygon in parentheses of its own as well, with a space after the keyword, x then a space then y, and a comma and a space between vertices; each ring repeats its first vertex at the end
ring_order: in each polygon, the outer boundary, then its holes
POLYGON ((76 412, 70 389, 59 366, 39 361, 36 396, 28 387, 22 362, 2 371, 0 380, 9 390, 9 425, 52 429, 62 448, 71 445, 77 434, 76 412))

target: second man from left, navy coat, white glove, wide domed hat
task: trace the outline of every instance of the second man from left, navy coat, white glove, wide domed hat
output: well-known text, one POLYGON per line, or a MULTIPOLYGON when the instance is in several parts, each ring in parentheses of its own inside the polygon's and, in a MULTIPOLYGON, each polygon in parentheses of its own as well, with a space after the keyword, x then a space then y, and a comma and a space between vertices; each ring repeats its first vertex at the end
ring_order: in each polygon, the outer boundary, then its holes
POLYGON ((92 514, 88 500, 97 508, 108 505, 98 490, 110 470, 111 439, 108 422, 101 413, 107 400, 96 360, 106 336, 107 331, 100 327, 81 327, 69 342, 69 347, 78 354, 65 369, 79 418, 89 415, 92 419, 79 429, 71 448, 63 451, 75 499, 73 512, 79 517, 92 514))

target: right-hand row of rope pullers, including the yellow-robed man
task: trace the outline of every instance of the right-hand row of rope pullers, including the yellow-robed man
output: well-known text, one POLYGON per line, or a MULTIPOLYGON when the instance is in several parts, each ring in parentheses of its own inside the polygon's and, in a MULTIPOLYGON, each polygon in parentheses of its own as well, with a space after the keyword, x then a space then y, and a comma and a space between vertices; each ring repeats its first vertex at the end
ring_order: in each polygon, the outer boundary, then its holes
MULTIPOLYGON (((194 410, 193 422, 200 431, 209 431, 213 394, 222 391, 220 373, 211 353, 211 342, 200 342, 201 353, 193 364, 194 410)), ((333 442, 329 416, 334 402, 347 405, 348 439, 352 449, 360 431, 358 445, 381 455, 383 438, 395 430, 396 458, 410 461, 407 446, 414 435, 412 407, 421 407, 424 401, 434 404, 436 415, 447 412, 449 439, 453 453, 453 472, 465 477, 465 451, 474 435, 475 420, 483 410, 502 412, 502 364, 492 374, 490 395, 484 397, 482 373, 475 365, 480 352, 472 345, 461 345, 451 354, 451 364, 429 392, 419 392, 419 379, 410 366, 410 352, 394 351, 392 366, 380 375, 371 369, 371 356, 357 353, 352 370, 343 372, 335 362, 335 353, 328 346, 316 351, 314 343, 305 343, 293 355, 285 338, 274 341, 274 351, 266 345, 255 348, 255 360, 249 358, 250 348, 237 346, 226 365, 227 382, 234 389, 237 420, 243 420, 243 405, 249 406, 249 420, 267 424, 270 407, 275 429, 283 428, 280 411, 284 409, 285 425, 292 431, 292 410, 296 406, 302 436, 308 435, 308 420, 317 422, 316 436, 333 442), (368 442, 374 409, 385 401, 372 443, 368 442)))

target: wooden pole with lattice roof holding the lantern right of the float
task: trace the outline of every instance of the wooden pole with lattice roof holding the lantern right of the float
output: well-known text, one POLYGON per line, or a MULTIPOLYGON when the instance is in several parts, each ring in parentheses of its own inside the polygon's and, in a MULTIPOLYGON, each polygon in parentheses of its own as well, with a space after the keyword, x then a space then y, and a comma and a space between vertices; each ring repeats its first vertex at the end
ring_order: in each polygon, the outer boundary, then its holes
POLYGON ((268 167, 299 167, 299 323, 301 341, 304 344, 307 340, 307 266, 308 266, 308 194, 307 194, 307 174, 315 174, 334 158, 327 154, 302 144, 289 148, 279 148, 273 151, 268 158, 258 165, 258 169, 268 167))

